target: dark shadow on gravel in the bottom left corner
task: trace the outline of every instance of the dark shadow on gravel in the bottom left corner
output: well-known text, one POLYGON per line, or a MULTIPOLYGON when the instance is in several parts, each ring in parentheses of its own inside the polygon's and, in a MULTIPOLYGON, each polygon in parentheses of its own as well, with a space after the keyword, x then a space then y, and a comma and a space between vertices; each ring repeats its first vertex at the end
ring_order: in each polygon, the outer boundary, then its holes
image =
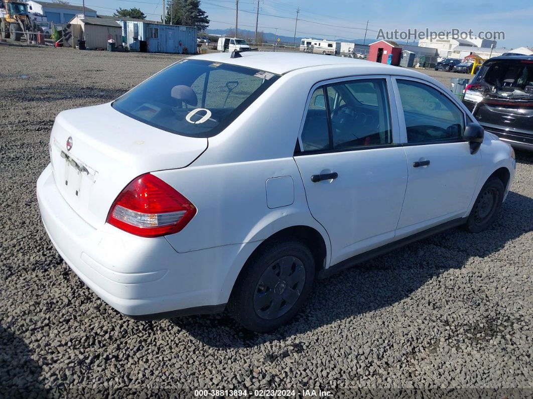
POLYGON ((0 326, 0 397, 46 397, 41 368, 22 338, 0 326))

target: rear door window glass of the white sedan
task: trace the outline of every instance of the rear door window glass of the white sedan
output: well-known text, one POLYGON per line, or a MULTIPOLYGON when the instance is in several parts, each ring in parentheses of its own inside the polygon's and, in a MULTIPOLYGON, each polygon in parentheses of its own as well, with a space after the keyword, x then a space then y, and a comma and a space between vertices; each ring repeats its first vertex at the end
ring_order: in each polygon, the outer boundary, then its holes
POLYGON ((391 143, 385 79, 334 83, 314 91, 302 131, 303 151, 391 143))

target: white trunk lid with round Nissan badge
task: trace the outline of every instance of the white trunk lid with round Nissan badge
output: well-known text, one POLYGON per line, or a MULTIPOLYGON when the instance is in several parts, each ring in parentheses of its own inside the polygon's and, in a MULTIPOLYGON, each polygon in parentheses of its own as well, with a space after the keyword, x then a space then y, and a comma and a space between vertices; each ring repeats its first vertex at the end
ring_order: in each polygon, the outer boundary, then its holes
POLYGON ((106 223, 112 202, 135 177, 189 165, 207 139, 169 133, 114 110, 111 104, 61 112, 50 158, 63 198, 87 223, 106 223))

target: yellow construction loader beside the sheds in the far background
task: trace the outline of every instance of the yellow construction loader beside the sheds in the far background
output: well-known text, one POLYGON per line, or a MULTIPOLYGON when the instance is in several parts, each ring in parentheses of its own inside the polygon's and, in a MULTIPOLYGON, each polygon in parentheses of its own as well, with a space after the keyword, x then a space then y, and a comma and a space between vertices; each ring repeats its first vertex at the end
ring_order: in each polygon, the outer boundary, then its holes
POLYGON ((29 33, 37 32, 38 27, 31 20, 28 4, 17 0, 0 0, 0 39, 20 41, 22 35, 29 41, 29 33))

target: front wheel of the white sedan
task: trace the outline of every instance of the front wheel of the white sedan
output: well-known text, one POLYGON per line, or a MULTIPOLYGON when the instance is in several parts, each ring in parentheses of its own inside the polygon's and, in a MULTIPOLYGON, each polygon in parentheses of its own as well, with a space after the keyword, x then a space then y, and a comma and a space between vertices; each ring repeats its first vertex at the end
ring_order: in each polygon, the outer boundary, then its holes
POLYGON ((465 229, 471 233, 479 233, 490 227, 498 216, 502 206, 505 187, 499 178, 493 176, 483 185, 472 211, 466 221, 465 229))

